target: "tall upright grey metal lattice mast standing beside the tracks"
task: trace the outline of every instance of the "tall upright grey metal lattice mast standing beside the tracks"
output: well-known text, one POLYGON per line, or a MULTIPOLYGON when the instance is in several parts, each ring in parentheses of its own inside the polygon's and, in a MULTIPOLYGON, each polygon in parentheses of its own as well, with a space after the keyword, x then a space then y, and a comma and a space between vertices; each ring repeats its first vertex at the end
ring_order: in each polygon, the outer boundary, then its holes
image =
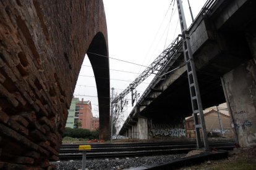
POLYGON ((200 148, 201 141, 200 141, 199 129, 202 128, 205 150, 209 150, 207 131, 205 127, 205 118, 203 117, 202 100, 200 97, 200 91, 198 87, 197 73, 195 71, 195 63, 194 63, 194 59, 191 51, 189 34, 187 33, 187 24, 185 20, 184 10, 183 10, 181 0, 176 0, 176 1, 177 1, 177 9, 179 12, 179 22, 181 23, 184 59, 187 65, 187 76, 189 78, 189 90, 190 90, 190 98, 191 98, 192 110, 193 110, 193 116, 194 116, 195 134, 197 137, 197 148, 200 148), (198 118, 197 118, 198 113, 200 116, 200 124, 198 123, 198 118))

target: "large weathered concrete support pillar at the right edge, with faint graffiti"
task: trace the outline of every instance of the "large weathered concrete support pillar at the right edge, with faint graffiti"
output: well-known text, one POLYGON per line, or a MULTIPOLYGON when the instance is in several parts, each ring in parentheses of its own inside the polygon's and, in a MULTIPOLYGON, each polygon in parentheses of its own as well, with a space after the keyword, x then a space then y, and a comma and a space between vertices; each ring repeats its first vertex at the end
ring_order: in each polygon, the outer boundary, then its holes
POLYGON ((224 91, 241 147, 256 145, 256 65, 253 60, 223 76, 224 91))

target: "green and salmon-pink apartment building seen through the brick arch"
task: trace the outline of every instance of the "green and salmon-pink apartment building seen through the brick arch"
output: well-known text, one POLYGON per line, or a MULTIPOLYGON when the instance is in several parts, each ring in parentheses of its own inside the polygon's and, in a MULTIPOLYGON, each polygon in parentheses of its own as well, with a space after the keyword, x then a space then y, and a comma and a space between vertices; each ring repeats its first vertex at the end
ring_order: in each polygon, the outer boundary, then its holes
POLYGON ((79 101, 79 98, 73 98, 66 127, 82 128, 92 130, 92 105, 90 100, 79 101))

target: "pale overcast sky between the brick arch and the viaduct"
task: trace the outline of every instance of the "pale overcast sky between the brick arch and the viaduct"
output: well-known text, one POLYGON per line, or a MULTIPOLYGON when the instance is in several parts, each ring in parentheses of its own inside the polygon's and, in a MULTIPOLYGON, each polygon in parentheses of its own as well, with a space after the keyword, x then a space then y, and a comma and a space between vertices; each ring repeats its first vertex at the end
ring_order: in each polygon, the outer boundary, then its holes
MULTIPOLYGON (((206 0, 190 0, 194 18, 206 0)), ((150 65, 181 33, 176 0, 103 0, 108 26, 109 57, 139 65, 150 65), (173 2, 172 2, 173 1, 173 2), (172 4, 171 4, 172 2, 172 4), (174 4, 174 6, 173 6, 174 4)), ((187 26, 192 23, 187 0, 183 1, 187 26)), ((126 89, 145 67, 109 59, 110 87, 117 94, 126 89), (119 71, 117 71, 119 70, 119 71), (127 73, 127 72, 132 73, 127 73)), ((74 95, 92 101, 93 115, 98 116, 98 99, 93 71, 85 56, 74 95)), ((153 76, 137 87, 142 94, 153 76)), ((131 95, 126 96, 131 99, 131 95)), ((129 100, 124 118, 132 106, 129 100)))

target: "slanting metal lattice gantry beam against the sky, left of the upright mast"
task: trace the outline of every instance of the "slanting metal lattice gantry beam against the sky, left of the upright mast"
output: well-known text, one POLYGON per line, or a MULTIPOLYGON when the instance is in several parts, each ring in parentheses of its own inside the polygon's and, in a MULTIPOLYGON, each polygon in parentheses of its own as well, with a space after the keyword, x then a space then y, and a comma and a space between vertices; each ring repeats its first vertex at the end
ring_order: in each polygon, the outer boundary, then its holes
POLYGON ((151 74, 156 74, 158 71, 163 70, 169 60, 172 59, 174 54, 177 53, 177 47, 180 42, 179 37, 174 39, 174 41, 148 66, 130 85, 119 94, 112 103, 117 103, 119 100, 124 98, 129 92, 137 87, 142 81, 144 81, 151 74))

